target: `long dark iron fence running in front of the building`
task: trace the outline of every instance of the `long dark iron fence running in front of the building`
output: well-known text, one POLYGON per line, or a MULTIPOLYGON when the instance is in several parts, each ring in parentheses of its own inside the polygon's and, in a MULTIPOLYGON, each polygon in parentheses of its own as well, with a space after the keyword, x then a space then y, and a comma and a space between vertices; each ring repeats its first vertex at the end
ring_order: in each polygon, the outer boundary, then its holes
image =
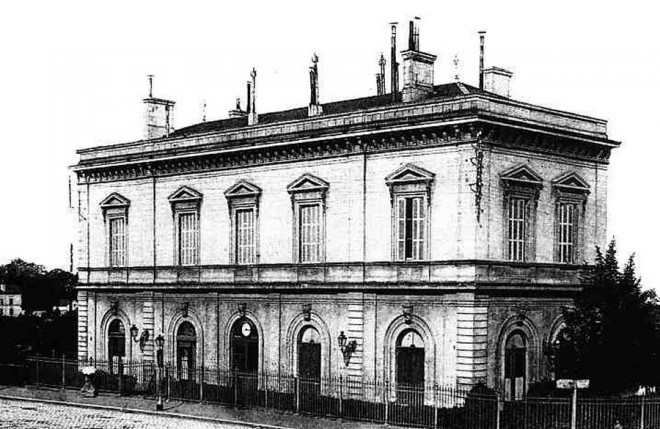
MULTIPOLYGON (((102 392, 200 401, 443 429, 569 429, 570 398, 503 401, 487 390, 438 385, 402 385, 354 377, 306 379, 274 373, 242 373, 209 368, 182 369, 151 362, 78 362, 31 357, 23 364, 0 364, 0 383, 81 388, 82 368, 94 366, 102 392), (160 374, 160 380, 158 380, 160 374)), ((660 429, 660 397, 578 398, 575 429, 660 429)))

